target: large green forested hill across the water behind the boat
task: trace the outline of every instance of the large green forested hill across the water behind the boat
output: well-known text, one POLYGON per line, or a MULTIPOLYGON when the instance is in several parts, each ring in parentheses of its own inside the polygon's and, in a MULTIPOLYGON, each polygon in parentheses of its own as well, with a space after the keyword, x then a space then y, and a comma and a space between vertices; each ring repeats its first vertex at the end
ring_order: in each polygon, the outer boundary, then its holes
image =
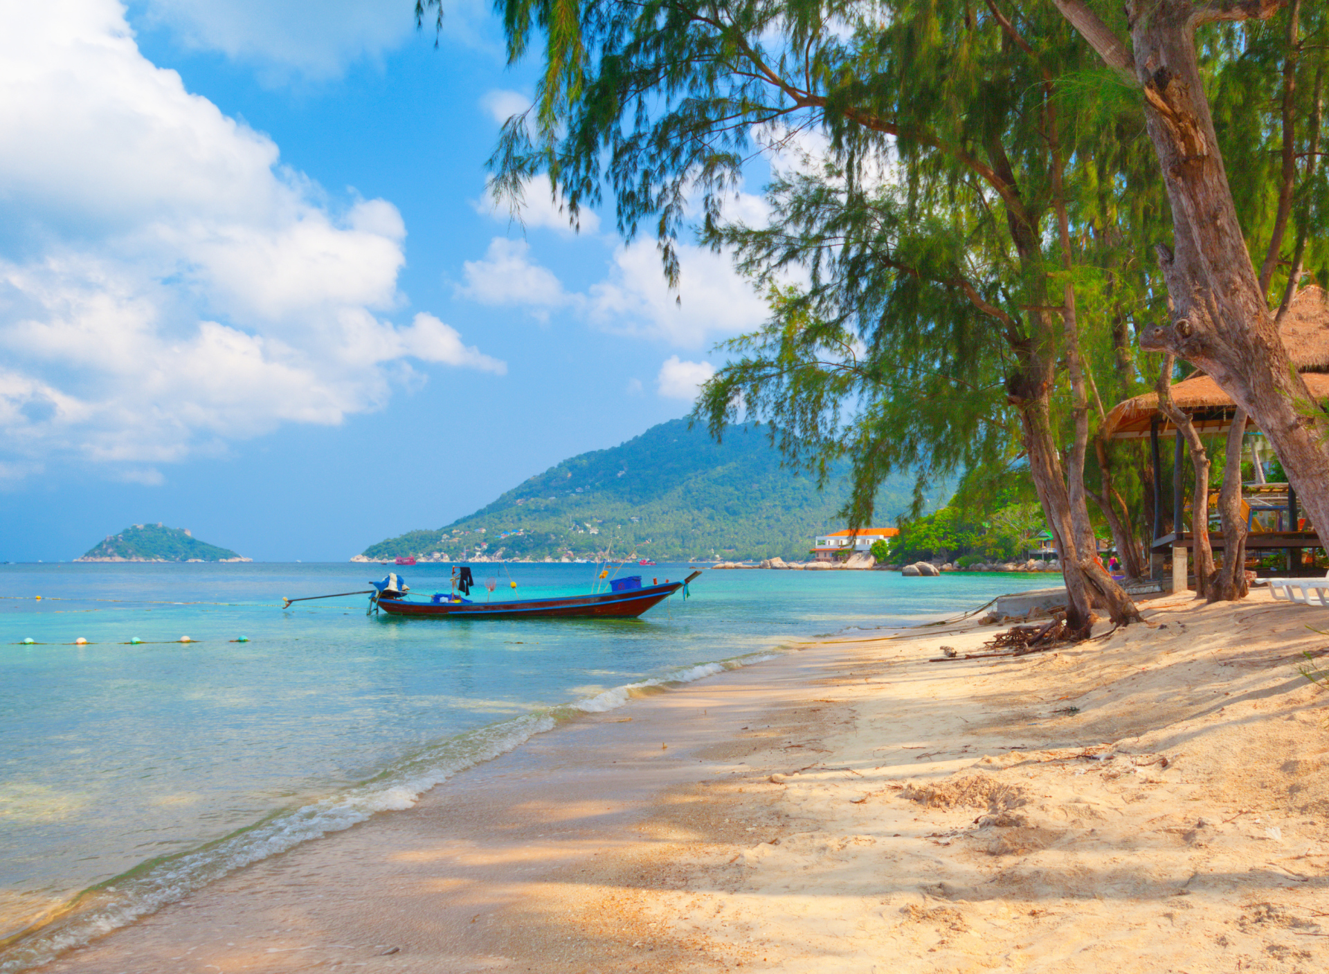
MULTIPOLYGON (((436 561, 595 558, 603 551, 657 561, 808 557, 813 536, 840 525, 848 497, 843 468, 827 485, 780 466, 756 424, 716 444, 686 420, 662 423, 627 442, 565 460, 469 517, 365 549, 361 558, 436 561)), ((929 498, 946 500, 949 488, 929 498)), ((909 508, 913 478, 888 481, 878 525, 909 508)))

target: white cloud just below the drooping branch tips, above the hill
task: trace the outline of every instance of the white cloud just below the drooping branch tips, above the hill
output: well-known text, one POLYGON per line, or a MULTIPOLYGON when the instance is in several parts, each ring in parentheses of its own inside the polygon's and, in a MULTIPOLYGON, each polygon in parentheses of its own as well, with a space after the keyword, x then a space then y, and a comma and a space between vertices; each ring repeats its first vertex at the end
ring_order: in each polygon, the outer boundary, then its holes
POLYGON ((682 348, 751 331, 768 316, 752 284, 726 254, 680 244, 679 287, 671 291, 654 241, 614 251, 606 280, 590 288, 591 316, 606 331, 645 335, 682 348))

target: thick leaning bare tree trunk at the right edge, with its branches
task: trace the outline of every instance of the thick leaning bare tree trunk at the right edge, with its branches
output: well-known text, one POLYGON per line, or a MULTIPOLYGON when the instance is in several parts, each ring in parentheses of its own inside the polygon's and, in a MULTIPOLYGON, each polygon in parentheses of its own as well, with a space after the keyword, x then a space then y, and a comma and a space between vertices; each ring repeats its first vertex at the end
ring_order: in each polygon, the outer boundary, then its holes
MULTIPOLYGON (((1288 478, 1320 530, 1329 530, 1329 419, 1309 395, 1280 338, 1277 316, 1296 292, 1308 235, 1329 214, 1309 206, 1316 193, 1320 100, 1324 84, 1325 8, 1305 0, 1127 0, 1124 24, 1116 3, 1049 0, 1075 25, 1104 64, 1138 88, 1148 136, 1172 210, 1172 246, 1160 251, 1171 314, 1147 328, 1144 348, 1175 355, 1205 372, 1251 416, 1282 461, 1288 478), (1286 9, 1281 90, 1265 101, 1280 108, 1281 178, 1265 256, 1257 272, 1228 182, 1200 57, 1219 25, 1265 21, 1286 9), (1316 43, 1302 43, 1302 20, 1316 43), (1302 58, 1306 65, 1300 64, 1302 58), (1310 104, 1297 112, 1298 78, 1313 68, 1310 104), (1304 151, 1298 153, 1298 147, 1304 151), (1300 157, 1300 166, 1298 166, 1300 157), (1308 177, 1302 206, 1296 181, 1308 177), (1281 294, 1271 308, 1269 287, 1285 254, 1289 221, 1298 223, 1281 294)), ((1228 504, 1231 508, 1231 502, 1228 504)), ((1229 562, 1232 557, 1229 554, 1229 562)), ((1223 582, 1239 589, 1235 579, 1223 582)))

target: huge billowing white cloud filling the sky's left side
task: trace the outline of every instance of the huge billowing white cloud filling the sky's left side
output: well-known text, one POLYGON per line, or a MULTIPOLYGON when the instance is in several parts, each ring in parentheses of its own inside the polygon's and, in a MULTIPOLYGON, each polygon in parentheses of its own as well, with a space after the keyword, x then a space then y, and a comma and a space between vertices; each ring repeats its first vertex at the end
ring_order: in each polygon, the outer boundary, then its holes
POLYGON ((64 456, 152 482, 379 408, 407 359, 504 371, 436 318, 380 318, 403 303, 396 207, 331 209, 146 61, 116 0, 7 4, 0 145, 0 477, 64 456))

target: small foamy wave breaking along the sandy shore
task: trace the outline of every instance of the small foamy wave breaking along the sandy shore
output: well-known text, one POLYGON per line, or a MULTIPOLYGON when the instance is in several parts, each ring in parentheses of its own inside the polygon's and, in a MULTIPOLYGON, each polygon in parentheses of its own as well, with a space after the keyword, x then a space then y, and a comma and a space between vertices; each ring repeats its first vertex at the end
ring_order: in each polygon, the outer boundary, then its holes
POLYGON ((148 860, 128 873, 92 886, 37 929, 0 942, 0 974, 48 963, 72 947, 126 926, 183 900, 237 869, 367 821, 377 812, 412 808, 431 788, 453 775, 513 751, 537 733, 582 714, 617 710, 635 698, 667 692, 754 663, 777 659, 772 651, 696 663, 661 676, 627 683, 595 696, 525 714, 466 731, 405 757, 375 777, 206 842, 189 852, 148 860))

